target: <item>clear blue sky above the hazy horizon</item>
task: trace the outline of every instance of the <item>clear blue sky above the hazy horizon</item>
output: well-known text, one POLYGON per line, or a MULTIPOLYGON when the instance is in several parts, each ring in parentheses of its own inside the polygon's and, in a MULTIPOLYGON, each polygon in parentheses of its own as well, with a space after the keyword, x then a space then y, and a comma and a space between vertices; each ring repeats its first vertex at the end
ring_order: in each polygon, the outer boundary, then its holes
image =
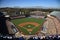
POLYGON ((0 0, 0 7, 52 7, 59 8, 60 0, 0 0))

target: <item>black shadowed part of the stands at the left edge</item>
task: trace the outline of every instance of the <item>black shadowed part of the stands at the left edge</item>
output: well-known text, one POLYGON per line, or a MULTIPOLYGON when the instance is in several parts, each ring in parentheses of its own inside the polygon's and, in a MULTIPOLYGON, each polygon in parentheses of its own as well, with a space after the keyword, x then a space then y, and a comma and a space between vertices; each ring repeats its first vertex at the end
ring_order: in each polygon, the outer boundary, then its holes
POLYGON ((0 34, 1 35, 7 35, 9 34, 8 32, 8 28, 6 26, 6 18, 5 18, 5 15, 0 12, 0 34))

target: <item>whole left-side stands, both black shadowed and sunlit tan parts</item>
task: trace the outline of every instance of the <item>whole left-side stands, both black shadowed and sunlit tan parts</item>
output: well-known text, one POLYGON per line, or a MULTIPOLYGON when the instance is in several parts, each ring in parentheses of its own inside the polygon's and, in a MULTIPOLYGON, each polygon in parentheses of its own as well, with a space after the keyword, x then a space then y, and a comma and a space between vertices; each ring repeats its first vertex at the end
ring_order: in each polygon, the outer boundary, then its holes
POLYGON ((5 16, 2 12, 0 12, 0 35, 20 36, 18 29, 10 20, 9 16, 5 16))

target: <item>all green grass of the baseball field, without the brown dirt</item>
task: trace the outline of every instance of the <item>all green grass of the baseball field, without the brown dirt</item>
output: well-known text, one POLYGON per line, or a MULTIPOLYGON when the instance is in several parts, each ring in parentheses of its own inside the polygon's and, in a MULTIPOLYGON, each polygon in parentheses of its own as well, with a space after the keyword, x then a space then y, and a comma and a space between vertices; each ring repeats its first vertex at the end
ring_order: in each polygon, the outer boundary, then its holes
POLYGON ((33 31, 31 32, 31 34, 35 34, 39 29, 40 26, 35 27, 34 25, 30 25, 31 27, 28 27, 28 25, 25 25, 25 27, 19 27, 18 25, 21 23, 25 23, 25 22, 36 22, 40 25, 42 25, 42 23, 44 22, 44 19, 36 19, 36 18, 23 18, 23 19, 14 19, 12 20, 12 22, 16 25, 16 27, 19 28, 20 31, 22 31, 25 34, 30 34, 28 32, 28 30, 26 30, 27 28, 33 28, 33 31))

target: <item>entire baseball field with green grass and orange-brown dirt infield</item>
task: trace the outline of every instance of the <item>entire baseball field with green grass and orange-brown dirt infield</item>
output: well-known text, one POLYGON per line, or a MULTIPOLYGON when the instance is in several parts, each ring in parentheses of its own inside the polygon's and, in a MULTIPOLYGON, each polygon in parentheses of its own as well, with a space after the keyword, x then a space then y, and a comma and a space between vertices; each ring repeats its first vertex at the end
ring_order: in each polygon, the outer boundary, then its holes
POLYGON ((40 31, 44 19, 22 18, 22 19, 13 19, 12 22, 16 25, 16 27, 22 34, 33 35, 37 34, 40 31))

